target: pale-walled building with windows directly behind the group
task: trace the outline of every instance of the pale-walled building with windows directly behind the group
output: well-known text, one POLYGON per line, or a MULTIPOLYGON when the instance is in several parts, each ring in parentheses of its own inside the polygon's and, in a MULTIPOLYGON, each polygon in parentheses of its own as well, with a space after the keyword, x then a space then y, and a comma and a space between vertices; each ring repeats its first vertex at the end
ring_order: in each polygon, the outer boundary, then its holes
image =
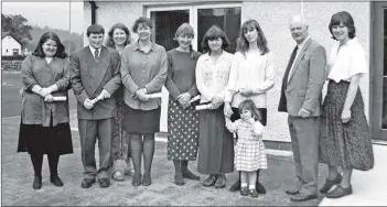
MULTIPOLYGON (((232 42, 229 52, 235 52, 240 25, 248 19, 259 22, 275 54, 276 85, 268 91, 268 126, 264 140, 289 143, 288 117, 277 111, 281 79, 292 48, 295 46, 289 31, 289 19, 303 14, 309 22, 310 35, 320 42, 327 56, 336 41, 331 39, 329 23, 332 14, 348 11, 356 26, 356 36, 366 53, 368 74, 361 80, 365 113, 372 138, 376 142, 387 142, 387 2, 376 1, 85 1, 84 29, 98 23, 108 31, 116 22, 125 23, 130 30, 139 17, 148 17, 154 23, 153 41, 166 51, 178 44, 174 32, 183 22, 189 22, 195 31, 193 48, 202 52, 201 41, 206 30, 216 24, 232 42)), ((107 34, 106 34, 107 35, 107 34)), ((133 34, 136 39, 136 34, 133 34)), ((87 39, 84 39, 87 45, 87 39)), ((324 87, 324 94, 326 86, 324 87)), ((163 90, 161 130, 166 129, 168 92, 163 90)))

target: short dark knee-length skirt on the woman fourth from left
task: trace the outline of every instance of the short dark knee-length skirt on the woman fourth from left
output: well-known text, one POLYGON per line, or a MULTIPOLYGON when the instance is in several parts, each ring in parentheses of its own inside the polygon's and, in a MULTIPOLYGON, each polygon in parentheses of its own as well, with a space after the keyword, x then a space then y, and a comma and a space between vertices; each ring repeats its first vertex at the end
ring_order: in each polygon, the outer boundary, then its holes
POLYGON ((153 110, 132 109, 123 105, 122 129, 128 133, 155 133, 160 131, 161 107, 153 110))

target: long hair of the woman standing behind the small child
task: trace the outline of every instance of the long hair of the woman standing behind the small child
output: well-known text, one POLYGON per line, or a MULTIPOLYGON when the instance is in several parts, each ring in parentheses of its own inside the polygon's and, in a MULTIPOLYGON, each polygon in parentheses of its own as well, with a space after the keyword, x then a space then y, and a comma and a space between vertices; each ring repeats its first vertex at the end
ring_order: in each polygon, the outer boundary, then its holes
POLYGON ((256 20, 247 20, 241 25, 239 31, 239 37, 237 41, 237 48, 240 51, 243 55, 246 55, 246 52, 249 48, 249 42, 246 40, 245 33, 251 29, 256 29, 258 33, 257 45, 258 48, 261 51, 261 55, 269 53, 268 42, 265 37, 264 31, 260 29, 259 23, 256 20))

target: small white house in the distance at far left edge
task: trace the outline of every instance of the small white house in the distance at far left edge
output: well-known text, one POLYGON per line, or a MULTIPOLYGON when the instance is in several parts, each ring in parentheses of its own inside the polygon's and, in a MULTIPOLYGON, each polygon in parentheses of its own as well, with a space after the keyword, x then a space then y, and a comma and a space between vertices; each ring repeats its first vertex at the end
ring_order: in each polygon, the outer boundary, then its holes
POLYGON ((1 55, 14 56, 22 54, 22 43, 9 32, 1 33, 1 55))

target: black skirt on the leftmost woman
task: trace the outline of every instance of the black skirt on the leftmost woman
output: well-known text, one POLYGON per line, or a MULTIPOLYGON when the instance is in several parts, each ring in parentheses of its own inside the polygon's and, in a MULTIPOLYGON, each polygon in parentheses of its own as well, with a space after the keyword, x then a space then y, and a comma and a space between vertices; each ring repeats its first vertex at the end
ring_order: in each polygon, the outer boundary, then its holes
POLYGON ((20 123, 18 152, 36 154, 72 154, 73 141, 69 123, 55 127, 20 123))

